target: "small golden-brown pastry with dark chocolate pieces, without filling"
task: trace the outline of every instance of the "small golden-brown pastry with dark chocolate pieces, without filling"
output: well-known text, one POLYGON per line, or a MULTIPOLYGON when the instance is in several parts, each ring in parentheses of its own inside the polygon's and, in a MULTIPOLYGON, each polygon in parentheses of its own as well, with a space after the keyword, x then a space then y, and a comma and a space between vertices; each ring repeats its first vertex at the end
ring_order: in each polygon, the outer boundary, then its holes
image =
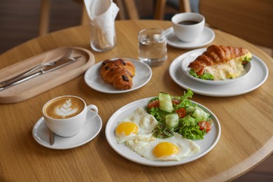
POLYGON ((106 59, 102 62, 101 76, 118 90, 128 90, 133 86, 135 67, 127 59, 106 59))

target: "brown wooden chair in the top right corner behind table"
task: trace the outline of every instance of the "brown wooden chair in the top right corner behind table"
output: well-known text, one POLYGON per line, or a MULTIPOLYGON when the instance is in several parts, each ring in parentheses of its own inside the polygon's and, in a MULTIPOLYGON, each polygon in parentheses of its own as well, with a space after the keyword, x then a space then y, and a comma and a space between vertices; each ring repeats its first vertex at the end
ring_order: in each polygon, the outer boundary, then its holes
POLYGON ((273 48, 273 1, 200 0, 199 8, 211 27, 273 48))

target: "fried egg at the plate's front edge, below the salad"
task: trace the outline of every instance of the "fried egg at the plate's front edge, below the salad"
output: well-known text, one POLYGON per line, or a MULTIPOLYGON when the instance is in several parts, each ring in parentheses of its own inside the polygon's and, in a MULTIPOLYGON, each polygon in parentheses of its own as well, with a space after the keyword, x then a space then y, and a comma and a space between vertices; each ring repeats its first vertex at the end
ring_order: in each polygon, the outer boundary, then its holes
POLYGON ((167 139, 158 139, 152 134, 141 135, 126 141, 126 145, 150 160, 182 160, 200 151, 195 142, 177 133, 167 139))

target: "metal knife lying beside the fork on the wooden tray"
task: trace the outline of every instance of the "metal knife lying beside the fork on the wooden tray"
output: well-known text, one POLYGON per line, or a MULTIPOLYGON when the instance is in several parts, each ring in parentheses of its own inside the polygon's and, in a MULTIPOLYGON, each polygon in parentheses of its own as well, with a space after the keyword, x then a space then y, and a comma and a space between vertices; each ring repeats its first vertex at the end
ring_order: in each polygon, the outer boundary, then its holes
POLYGON ((2 85, 2 86, 0 87, 0 91, 1 91, 1 90, 5 90, 6 88, 11 87, 11 86, 13 86, 13 85, 17 85, 18 83, 22 83, 22 82, 24 82, 24 81, 26 81, 26 80, 29 80, 29 79, 31 79, 31 78, 34 78, 34 77, 36 77, 36 76, 42 75, 42 74, 44 74, 44 73, 48 73, 48 72, 50 72, 50 71, 54 71, 54 70, 56 70, 56 69, 59 69, 59 68, 61 68, 61 67, 63 67, 63 66, 66 66, 66 65, 68 65, 68 64, 71 64, 72 62, 76 62, 76 60, 78 60, 78 58, 80 58, 80 57, 81 57, 81 56, 78 56, 78 57, 71 57, 71 58, 68 58, 68 59, 59 60, 59 61, 55 62, 55 64, 52 65, 52 66, 47 66, 47 67, 45 67, 44 69, 40 69, 38 72, 29 74, 28 76, 25 76, 24 78, 22 78, 22 79, 20 79, 20 80, 15 80, 15 81, 12 82, 12 83, 8 83, 8 84, 6 84, 6 85, 2 85))

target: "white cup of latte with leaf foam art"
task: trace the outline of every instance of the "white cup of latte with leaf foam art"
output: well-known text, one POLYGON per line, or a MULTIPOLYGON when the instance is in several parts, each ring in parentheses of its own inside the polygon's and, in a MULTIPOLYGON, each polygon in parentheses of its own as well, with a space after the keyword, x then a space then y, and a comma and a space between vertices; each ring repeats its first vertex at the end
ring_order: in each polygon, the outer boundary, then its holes
POLYGON ((64 95, 43 106, 43 118, 48 128, 60 137, 73 137, 83 128, 88 116, 97 116, 97 106, 86 105, 80 97, 64 95))

